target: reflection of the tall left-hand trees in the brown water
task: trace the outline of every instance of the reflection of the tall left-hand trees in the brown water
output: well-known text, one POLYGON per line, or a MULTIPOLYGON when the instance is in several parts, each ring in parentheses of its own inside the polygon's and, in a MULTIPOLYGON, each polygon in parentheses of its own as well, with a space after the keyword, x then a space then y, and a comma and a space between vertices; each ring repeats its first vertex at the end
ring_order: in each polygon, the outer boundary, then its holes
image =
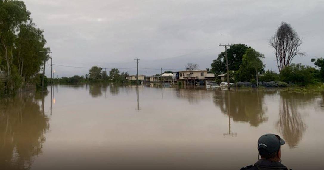
POLYGON ((0 101, 0 169, 30 169, 42 153, 50 125, 40 105, 33 93, 0 101))

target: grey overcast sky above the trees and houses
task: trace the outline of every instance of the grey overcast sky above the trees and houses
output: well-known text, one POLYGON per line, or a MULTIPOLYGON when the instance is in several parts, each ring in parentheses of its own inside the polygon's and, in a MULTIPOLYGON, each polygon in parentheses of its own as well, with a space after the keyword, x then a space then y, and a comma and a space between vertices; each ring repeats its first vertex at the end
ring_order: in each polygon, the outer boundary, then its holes
MULTIPOLYGON (((303 39, 301 49, 307 53, 293 62, 313 65, 311 58, 324 57, 323 0, 26 0, 25 3, 33 21, 44 30, 54 64, 111 68, 119 62, 135 66, 134 58, 148 63, 181 56, 181 60, 174 61, 183 61, 181 64, 185 65, 186 56, 191 61, 195 56, 217 58, 224 51, 218 46, 220 43, 245 43, 265 54, 266 69, 277 71, 268 40, 282 21, 295 28, 303 39)), ((210 67, 209 62, 200 64, 201 69, 210 67)), ((170 62, 169 68, 174 67, 170 62)), ((87 69, 60 66, 54 69, 60 76, 87 73, 87 69)))

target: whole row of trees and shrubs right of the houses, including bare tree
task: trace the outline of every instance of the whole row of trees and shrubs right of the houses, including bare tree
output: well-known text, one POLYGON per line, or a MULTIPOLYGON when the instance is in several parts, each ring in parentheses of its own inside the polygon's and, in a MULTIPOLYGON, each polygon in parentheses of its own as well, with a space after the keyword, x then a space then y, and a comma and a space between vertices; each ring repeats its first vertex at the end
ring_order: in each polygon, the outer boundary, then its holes
MULTIPOLYGON (((274 48, 279 73, 265 71, 264 55, 245 44, 233 44, 227 50, 228 68, 231 82, 282 81, 296 85, 324 82, 324 59, 312 59, 314 67, 292 63, 295 56, 303 56, 300 51, 302 41, 294 28, 283 22, 269 41, 274 48)), ((221 52, 211 64, 216 76, 226 73, 226 53, 221 52)), ((221 81, 220 79, 216 79, 221 81)))

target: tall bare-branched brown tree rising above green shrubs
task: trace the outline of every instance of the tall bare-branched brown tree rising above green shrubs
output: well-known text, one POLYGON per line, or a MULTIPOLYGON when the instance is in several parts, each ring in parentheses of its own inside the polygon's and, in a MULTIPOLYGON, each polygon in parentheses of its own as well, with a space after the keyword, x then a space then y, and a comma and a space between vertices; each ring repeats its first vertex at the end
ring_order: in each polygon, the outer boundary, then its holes
POLYGON ((301 38, 295 29, 286 22, 281 23, 269 43, 274 48, 279 72, 289 66, 295 56, 305 55, 299 48, 302 44, 301 38))

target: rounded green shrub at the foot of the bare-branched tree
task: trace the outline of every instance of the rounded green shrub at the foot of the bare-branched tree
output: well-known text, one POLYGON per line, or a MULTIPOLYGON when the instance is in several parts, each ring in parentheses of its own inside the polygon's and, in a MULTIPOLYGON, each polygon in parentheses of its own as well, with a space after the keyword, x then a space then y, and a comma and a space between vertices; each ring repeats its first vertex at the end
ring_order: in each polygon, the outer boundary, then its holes
POLYGON ((291 64, 281 70, 280 79, 286 83, 291 82, 298 85, 308 85, 314 83, 314 78, 318 72, 314 67, 291 64))

